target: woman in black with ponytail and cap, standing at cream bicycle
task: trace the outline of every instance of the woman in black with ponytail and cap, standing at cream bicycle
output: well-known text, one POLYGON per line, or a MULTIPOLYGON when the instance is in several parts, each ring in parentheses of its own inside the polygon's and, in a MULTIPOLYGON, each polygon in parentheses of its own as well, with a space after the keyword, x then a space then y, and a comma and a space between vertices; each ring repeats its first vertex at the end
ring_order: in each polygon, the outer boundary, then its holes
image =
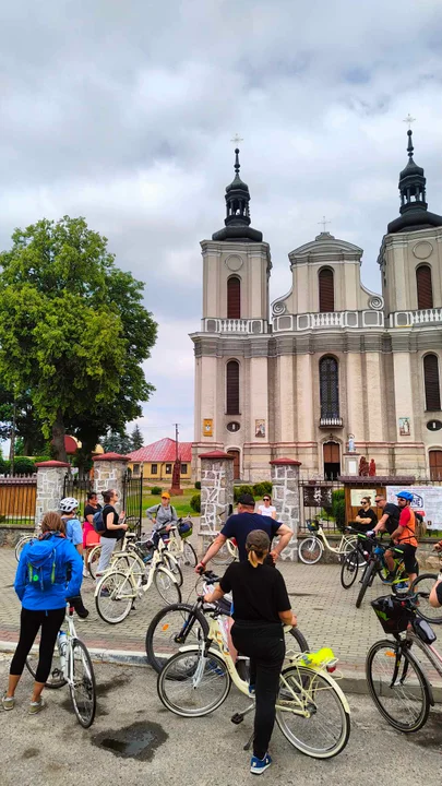
POLYGON ((250 765, 250 772, 254 774, 264 772, 272 762, 267 749, 285 656, 282 623, 297 624, 282 574, 274 567, 264 564, 270 547, 267 533, 262 529, 249 532, 247 561, 232 562, 218 586, 204 597, 206 603, 214 603, 225 593, 231 592, 234 596, 231 638, 237 650, 250 658, 249 690, 256 698, 250 765))

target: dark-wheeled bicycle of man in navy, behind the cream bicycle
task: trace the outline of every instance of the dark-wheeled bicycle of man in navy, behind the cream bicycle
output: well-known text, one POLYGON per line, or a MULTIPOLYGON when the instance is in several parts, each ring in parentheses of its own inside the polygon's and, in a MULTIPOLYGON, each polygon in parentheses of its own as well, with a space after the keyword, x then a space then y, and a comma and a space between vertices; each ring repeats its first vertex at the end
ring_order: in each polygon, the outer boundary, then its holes
MULTIPOLYGON (((219 581, 212 571, 202 573, 205 585, 203 585, 204 594, 208 587, 219 581)), ((196 582, 199 584, 200 579, 196 582)), ((195 588, 196 588, 195 585, 195 588)), ((146 631, 145 648, 147 660, 155 671, 159 672, 167 660, 177 653, 186 644, 198 644, 201 640, 208 635, 208 622, 206 615, 216 609, 224 619, 230 617, 230 603, 223 598, 217 604, 174 604, 160 609, 146 631)), ((224 620, 223 620, 224 622, 224 620)), ((226 629, 225 629, 226 630, 226 629)), ((286 650, 291 652, 308 652, 309 645, 306 638, 298 628, 287 626, 286 650)), ((237 662, 238 667, 238 662, 237 662)), ((242 669, 240 663, 239 670, 242 669)), ((242 669, 242 674, 244 674, 242 669)))

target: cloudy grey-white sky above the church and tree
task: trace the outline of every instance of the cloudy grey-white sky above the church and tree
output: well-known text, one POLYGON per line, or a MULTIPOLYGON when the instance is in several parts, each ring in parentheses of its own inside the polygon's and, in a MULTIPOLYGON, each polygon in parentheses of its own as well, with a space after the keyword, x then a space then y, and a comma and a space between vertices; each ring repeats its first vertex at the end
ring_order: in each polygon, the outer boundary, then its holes
POLYGON ((16 0, 0 25, 0 248, 15 227, 82 215, 145 282, 159 325, 145 443, 176 421, 193 438, 200 241, 224 226, 236 133, 272 299, 323 215, 380 290, 409 112, 442 212, 440 0, 16 0))

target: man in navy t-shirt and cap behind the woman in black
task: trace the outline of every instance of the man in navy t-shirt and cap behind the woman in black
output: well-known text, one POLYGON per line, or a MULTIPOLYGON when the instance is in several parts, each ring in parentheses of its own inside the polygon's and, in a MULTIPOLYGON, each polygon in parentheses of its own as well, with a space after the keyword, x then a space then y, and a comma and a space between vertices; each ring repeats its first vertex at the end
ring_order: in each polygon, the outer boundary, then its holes
POLYGON ((275 536, 279 537, 279 541, 275 548, 270 552, 270 559, 273 563, 276 562, 280 552, 285 549, 287 544, 290 541, 294 532, 287 524, 276 522, 270 516, 263 516, 254 512, 254 499, 252 495, 243 493, 238 500, 238 513, 227 519, 219 535, 216 536, 215 540, 208 547, 202 560, 195 568, 195 573, 200 573, 204 570, 207 562, 218 553, 222 546, 229 538, 235 538, 238 546, 239 560, 246 562, 247 549, 246 539, 250 532, 253 529, 263 529, 272 543, 275 536))

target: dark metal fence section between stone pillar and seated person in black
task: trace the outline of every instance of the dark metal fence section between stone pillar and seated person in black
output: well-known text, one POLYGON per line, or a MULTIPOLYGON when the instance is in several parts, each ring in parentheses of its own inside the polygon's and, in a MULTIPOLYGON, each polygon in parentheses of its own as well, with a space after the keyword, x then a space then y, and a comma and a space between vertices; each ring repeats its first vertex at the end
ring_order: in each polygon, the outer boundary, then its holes
POLYGON ((344 487, 337 480, 300 480, 300 533, 307 533, 307 522, 316 519, 323 529, 341 531, 345 519, 344 487))

